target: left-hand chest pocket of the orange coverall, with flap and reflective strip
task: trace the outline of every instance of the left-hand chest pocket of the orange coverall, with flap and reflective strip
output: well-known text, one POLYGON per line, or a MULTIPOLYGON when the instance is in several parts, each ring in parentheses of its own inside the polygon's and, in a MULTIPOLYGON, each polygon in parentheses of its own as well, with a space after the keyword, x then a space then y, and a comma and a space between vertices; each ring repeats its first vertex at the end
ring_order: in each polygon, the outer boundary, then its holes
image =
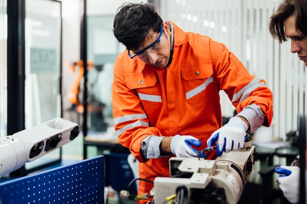
POLYGON ((142 73, 128 73, 125 75, 127 87, 136 90, 144 110, 157 109, 162 104, 160 89, 153 70, 142 73))

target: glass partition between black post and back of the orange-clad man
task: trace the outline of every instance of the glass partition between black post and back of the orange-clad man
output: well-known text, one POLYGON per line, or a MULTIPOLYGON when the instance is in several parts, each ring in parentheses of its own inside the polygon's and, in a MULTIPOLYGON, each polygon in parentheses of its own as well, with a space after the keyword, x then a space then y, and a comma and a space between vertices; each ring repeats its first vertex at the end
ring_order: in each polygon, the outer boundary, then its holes
MULTIPOLYGON (((84 158, 87 157, 87 146, 92 146, 91 149, 89 148, 89 155, 93 156, 95 153, 100 155, 105 153, 105 148, 99 147, 103 139, 117 140, 111 103, 113 66, 117 55, 126 48, 118 43, 113 35, 113 21, 118 7, 125 2, 127 1, 86 1, 88 104, 84 158)), ((147 0, 143 2, 146 3, 147 0)))

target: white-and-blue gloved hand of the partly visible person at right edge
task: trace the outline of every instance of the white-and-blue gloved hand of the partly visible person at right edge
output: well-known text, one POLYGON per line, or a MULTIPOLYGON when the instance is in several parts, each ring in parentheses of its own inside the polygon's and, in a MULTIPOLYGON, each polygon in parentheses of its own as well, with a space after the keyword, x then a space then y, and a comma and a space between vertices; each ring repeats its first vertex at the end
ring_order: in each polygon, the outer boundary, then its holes
POLYGON ((279 166, 275 168, 275 172, 282 174, 278 182, 284 197, 292 204, 299 203, 300 167, 279 166))

